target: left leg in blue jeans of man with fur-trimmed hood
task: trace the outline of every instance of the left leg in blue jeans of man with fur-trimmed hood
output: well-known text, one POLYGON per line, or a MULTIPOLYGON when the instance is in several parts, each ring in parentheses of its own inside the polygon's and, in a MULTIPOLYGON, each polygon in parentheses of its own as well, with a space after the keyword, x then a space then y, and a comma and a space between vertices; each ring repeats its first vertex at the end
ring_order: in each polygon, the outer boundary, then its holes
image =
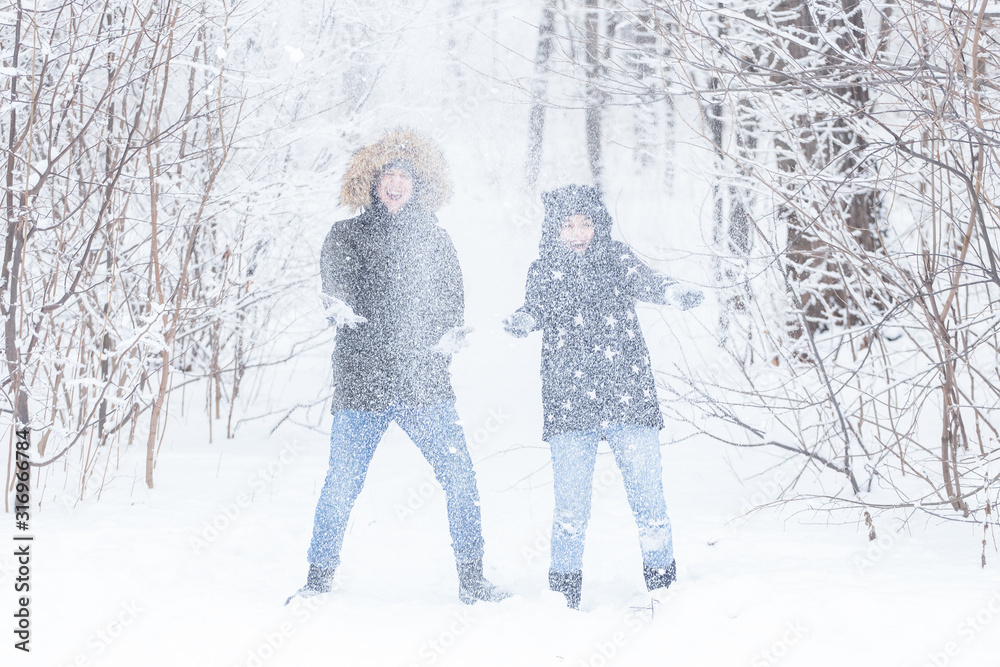
POLYGON ((384 413, 339 410, 333 415, 330 467, 316 503, 307 555, 311 565, 332 571, 340 564, 351 508, 364 486, 375 447, 388 427, 389 418, 384 413))

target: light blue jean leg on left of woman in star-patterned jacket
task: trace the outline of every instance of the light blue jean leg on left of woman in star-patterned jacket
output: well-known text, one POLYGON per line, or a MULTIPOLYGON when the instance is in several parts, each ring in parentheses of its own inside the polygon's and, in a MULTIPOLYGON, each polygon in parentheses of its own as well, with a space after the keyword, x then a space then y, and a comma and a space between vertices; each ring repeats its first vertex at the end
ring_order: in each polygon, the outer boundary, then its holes
POLYGON ((552 571, 579 572, 590 521, 590 499, 597 460, 598 431, 571 431, 549 439, 552 454, 552 571))

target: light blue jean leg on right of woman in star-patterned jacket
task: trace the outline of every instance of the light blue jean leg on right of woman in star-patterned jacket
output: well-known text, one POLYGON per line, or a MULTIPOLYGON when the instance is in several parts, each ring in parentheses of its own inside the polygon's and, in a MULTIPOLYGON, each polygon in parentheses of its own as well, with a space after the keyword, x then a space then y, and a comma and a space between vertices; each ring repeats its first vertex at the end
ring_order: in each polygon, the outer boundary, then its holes
POLYGON ((674 545, 663 495, 657 430, 645 426, 612 426, 607 430, 607 439, 621 469, 625 494, 639 527, 643 564, 647 569, 666 570, 674 562, 674 545))

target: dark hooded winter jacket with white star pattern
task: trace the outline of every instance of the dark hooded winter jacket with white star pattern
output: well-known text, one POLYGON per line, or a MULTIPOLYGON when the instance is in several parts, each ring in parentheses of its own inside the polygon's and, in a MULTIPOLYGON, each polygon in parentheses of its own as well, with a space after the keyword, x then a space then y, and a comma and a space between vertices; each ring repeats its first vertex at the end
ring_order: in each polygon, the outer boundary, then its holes
POLYGON ((611 218, 593 188, 567 186, 543 200, 539 258, 521 308, 542 329, 543 439, 611 424, 663 428, 634 304, 665 303, 673 281, 611 239, 611 218), (562 220, 577 213, 595 227, 582 256, 559 239, 562 220))

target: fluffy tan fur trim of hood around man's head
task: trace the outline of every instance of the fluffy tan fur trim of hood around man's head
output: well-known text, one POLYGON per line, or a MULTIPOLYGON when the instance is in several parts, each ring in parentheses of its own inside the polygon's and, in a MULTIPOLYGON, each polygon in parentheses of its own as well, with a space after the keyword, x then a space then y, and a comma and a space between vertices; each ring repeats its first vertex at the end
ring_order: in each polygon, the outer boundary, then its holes
POLYGON ((340 189, 340 205, 357 210, 372 204, 375 178, 385 165, 407 160, 416 172, 413 196, 424 209, 434 212, 451 198, 448 164, 441 150, 413 130, 389 130, 351 156, 340 189))

